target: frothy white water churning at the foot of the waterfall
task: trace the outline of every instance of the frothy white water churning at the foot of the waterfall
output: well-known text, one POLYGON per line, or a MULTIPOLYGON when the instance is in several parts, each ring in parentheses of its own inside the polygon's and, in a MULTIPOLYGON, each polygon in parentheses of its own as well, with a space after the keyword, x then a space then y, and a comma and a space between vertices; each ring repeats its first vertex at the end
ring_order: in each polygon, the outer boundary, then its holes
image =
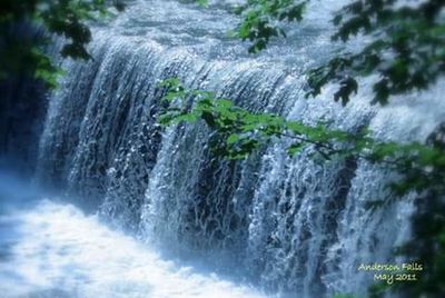
POLYGON ((264 297, 165 260, 72 205, 44 199, 29 209, 9 208, 0 215, 0 234, 2 298, 264 297))

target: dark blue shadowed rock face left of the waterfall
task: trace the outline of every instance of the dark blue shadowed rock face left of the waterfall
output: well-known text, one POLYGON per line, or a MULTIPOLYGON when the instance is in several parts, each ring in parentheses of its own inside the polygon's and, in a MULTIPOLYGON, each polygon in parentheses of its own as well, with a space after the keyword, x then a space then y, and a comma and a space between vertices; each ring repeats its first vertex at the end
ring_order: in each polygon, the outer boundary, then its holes
MULTIPOLYGON (((41 30, 27 23, 3 26, 0 48, 11 42, 33 42, 42 36, 41 30)), ((0 63, 3 59, 9 58, 1 57, 0 63)), ((7 63, 1 68, 8 78, 0 79, 0 167, 12 167, 20 175, 30 176, 48 107, 46 89, 29 74, 32 69, 27 64, 7 63)))

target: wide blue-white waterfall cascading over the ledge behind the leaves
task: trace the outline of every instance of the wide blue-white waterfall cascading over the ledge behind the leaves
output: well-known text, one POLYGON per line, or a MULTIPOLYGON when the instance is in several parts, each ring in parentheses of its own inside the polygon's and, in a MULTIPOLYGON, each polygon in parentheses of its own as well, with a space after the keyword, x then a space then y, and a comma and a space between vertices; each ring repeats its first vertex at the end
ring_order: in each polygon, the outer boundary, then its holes
POLYGON ((67 73, 50 100, 37 180, 81 198, 142 241, 269 292, 363 295, 373 277, 358 266, 394 262, 394 246, 409 237, 412 198, 366 208, 385 196, 392 173, 362 159, 322 163, 312 148, 290 158, 286 140, 227 161, 210 152, 214 136, 204 123, 157 125, 158 82, 178 77, 250 111, 332 121, 346 131, 369 126, 382 140, 424 140, 445 116, 438 86, 385 108, 369 106, 366 80, 345 108, 332 87, 304 98, 305 71, 333 48, 329 13, 342 1, 327 2, 314 1, 287 40, 250 57, 246 44, 226 38, 236 21, 229 1, 207 10, 132 1, 95 28, 93 60, 62 62, 67 73))

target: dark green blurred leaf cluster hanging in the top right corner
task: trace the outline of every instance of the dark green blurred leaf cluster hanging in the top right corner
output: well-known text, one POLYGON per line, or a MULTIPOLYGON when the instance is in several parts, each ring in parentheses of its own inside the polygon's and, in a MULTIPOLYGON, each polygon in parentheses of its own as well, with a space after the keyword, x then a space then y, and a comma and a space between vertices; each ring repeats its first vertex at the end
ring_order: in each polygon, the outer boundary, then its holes
POLYGON ((445 71, 444 1, 408 6, 396 0, 359 0, 337 12, 333 41, 365 34, 370 42, 355 53, 335 57, 309 71, 308 96, 328 82, 338 82, 335 100, 346 105, 357 91, 357 77, 378 74, 373 103, 386 105, 390 96, 425 90, 445 71))

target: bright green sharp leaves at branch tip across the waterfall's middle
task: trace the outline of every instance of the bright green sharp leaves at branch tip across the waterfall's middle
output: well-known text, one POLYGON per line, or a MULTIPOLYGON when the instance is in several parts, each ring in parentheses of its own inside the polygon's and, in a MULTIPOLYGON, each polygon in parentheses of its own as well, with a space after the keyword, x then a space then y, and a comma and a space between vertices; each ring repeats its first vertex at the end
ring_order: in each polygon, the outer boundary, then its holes
POLYGON ((165 80, 160 87, 166 88, 164 101, 170 105, 159 122, 167 126, 202 120, 217 133, 215 139, 220 140, 214 143, 214 151, 229 159, 244 159, 260 146, 281 137, 291 140, 287 148, 290 156, 312 145, 317 153, 329 159, 342 152, 334 141, 347 141, 350 137, 343 131, 327 130, 323 123, 307 126, 271 113, 249 112, 228 99, 217 98, 214 92, 185 89, 178 79, 165 80), (191 106, 188 105, 190 100, 194 101, 191 106))

